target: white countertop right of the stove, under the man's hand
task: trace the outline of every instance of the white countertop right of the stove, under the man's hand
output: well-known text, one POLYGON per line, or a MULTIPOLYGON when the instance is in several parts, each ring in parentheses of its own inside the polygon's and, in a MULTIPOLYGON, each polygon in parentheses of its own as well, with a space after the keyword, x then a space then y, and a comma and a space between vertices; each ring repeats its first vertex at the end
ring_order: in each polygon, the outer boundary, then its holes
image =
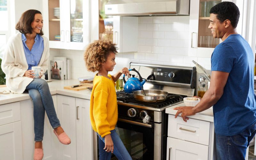
MULTIPOLYGON (((177 110, 173 110, 173 108, 175 107, 181 107, 181 106, 185 106, 184 103, 180 103, 177 104, 175 106, 169 107, 165 109, 165 113, 171 114, 171 115, 175 115, 177 110)), ((199 119, 199 120, 203 120, 203 121, 209 121, 209 122, 213 122, 213 111, 212 111, 212 107, 200 112, 200 113, 196 113, 196 115, 193 116, 188 116, 189 118, 193 118, 193 119, 199 119)))

